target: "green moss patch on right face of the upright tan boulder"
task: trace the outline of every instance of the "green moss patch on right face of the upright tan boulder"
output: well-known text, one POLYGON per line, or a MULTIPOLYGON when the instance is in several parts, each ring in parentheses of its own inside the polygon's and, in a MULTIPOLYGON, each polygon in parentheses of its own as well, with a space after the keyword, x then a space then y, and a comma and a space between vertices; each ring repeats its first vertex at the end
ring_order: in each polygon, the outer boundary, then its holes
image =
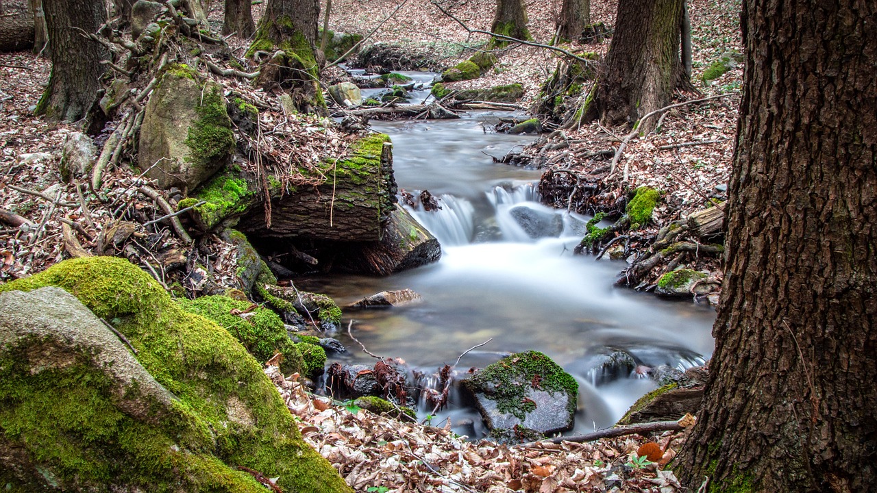
POLYGON ((219 92, 218 85, 210 84, 210 89, 204 91, 195 111, 199 118, 189 126, 185 142, 190 153, 186 161, 203 166, 225 161, 234 151, 235 142, 232 119, 225 110, 225 98, 219 92))

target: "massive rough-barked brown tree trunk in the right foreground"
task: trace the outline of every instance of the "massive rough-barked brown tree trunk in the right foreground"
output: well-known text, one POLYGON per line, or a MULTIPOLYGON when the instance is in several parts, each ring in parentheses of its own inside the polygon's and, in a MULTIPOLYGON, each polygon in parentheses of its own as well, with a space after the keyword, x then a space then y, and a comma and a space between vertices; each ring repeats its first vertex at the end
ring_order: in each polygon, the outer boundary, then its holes
POLYGON ((742 20, 716 352, 675 471, 691 490, 870 490, 877 4, 746 0, 742 20))

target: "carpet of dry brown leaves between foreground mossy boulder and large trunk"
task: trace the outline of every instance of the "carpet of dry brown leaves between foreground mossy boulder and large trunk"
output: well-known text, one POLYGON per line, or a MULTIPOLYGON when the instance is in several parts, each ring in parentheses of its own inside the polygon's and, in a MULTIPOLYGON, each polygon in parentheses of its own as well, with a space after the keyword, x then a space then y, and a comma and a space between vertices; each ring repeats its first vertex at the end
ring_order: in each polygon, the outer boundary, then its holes
MULTIPOLYGON (((504 446, 466 441, 444 428, 401 423, 369 411, 349 411, 328 397, 315 397, 277 368, 267 375, 296 416, 304 439, 357 491, 386 487, 403 491, 679 491, 673 473, 657 465, 625 466, 646 440, 638 437, 592 443, 504 446)), ((661 440, 681 445, 681 433, 661 440)), ((667 447, 667 445, 665 445, 667 447)), ((672 452, 672 449, 671 449, 672 452)))

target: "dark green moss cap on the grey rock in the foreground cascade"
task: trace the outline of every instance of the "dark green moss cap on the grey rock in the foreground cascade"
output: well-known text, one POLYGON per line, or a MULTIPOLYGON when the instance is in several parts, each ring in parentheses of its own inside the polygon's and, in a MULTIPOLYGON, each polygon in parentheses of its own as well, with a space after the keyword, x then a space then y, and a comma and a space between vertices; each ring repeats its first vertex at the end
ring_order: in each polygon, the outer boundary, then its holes
POLYGON ((538 351, 511 354, 496 363, 491 363, 465 381, 469 389, 490 389, 496 400, 496 407, 519 419, 535 410, 535 404, 524 401, 531 382, 538 382, 540 389, 551 393, 569 394, 568 411, 575 411, 575 396, 579 384, 551 358, 538 351))

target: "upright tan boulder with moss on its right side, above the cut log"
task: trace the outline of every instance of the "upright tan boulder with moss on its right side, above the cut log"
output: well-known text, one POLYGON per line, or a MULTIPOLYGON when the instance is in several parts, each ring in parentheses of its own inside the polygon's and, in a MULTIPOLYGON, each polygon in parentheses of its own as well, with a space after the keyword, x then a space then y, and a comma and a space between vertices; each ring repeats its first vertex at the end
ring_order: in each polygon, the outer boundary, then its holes
POLYGON ((175 64, 161 75, 140 127, 138 166, 162 189, 195 189, 235 147, 222 86, 175 64))

